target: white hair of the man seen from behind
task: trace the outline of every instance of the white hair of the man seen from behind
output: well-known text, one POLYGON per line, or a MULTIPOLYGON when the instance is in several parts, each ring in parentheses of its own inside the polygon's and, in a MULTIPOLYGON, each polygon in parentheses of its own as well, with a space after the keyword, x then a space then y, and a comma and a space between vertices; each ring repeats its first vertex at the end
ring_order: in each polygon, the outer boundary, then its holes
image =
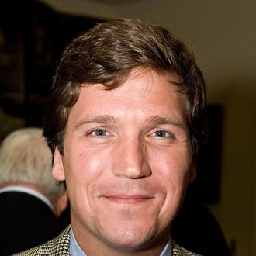
POLYGON ((51 176, 50 149, 43 138, 43 130, 21 128, 9 134, 0 147, 0 186, 9 182, 26 182, 57 197, 63 185, 51 176))

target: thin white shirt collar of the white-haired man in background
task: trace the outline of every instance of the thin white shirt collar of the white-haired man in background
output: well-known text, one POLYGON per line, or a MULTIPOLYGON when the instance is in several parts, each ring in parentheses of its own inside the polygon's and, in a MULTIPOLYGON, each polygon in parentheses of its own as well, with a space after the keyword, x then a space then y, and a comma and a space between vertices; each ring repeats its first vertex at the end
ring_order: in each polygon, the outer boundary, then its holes
POLYGON ((37 192, 34 189, 29 189, 29 188, 26 188, 26 187, 23 187, 20 185, 10 185, 10 186, 0 189, 0 194, 4 193, 4 192, 22 192, 22 193, 26 193, 29 195, 33 195, 37 199, 40 199, 41 201, 43 201, 47 206, 49 206, 49 208, 53 211, 53 213, 55 213, 54 206, 52 205, 50 200, 47 199, 47 197, 45 195, 41 194, 40 192, 37 192))

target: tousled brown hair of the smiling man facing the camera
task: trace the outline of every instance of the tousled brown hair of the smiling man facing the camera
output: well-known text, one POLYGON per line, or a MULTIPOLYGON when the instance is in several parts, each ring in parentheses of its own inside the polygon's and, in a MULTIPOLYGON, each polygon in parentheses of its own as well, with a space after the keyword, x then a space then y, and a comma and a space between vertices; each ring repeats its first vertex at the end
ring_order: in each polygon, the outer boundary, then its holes
POLYGON ((194 57, 183 43, 161 26, 137 19, 114 19, 74 39, 62 54, 54 76, 43 134, 54 153, 63 151, 64 133, 82 84, 102 83, 113 89, 137 67, 175 72, 189 100, 189 130, 197 154, 205 107, 205 82, 194 57))

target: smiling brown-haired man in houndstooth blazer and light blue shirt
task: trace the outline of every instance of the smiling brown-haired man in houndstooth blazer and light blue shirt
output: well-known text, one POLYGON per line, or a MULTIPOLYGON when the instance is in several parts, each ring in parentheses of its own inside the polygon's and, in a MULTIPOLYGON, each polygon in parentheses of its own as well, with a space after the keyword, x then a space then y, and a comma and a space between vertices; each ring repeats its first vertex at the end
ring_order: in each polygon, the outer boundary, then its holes
POLYGON ((71 226, 20 255, 195 255, 169 234, 195 179, 204 99, 201 71, 164 28, 116 19, 75 39, 44 128, 71 226))

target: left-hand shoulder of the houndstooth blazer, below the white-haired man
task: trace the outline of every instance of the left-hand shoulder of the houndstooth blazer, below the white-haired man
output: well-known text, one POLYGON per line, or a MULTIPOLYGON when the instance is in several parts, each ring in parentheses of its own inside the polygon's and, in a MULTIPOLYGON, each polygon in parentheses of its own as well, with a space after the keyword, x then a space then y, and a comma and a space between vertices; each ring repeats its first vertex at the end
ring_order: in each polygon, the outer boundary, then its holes
POLYGON ((22 251, 16 256, 33 256, 33 255, 69 255, 69 243, 70 243, 70 230, 71 225, 68 226, 58 237, 48 241, 46 244, 42 244, 32 249, 22 251))

